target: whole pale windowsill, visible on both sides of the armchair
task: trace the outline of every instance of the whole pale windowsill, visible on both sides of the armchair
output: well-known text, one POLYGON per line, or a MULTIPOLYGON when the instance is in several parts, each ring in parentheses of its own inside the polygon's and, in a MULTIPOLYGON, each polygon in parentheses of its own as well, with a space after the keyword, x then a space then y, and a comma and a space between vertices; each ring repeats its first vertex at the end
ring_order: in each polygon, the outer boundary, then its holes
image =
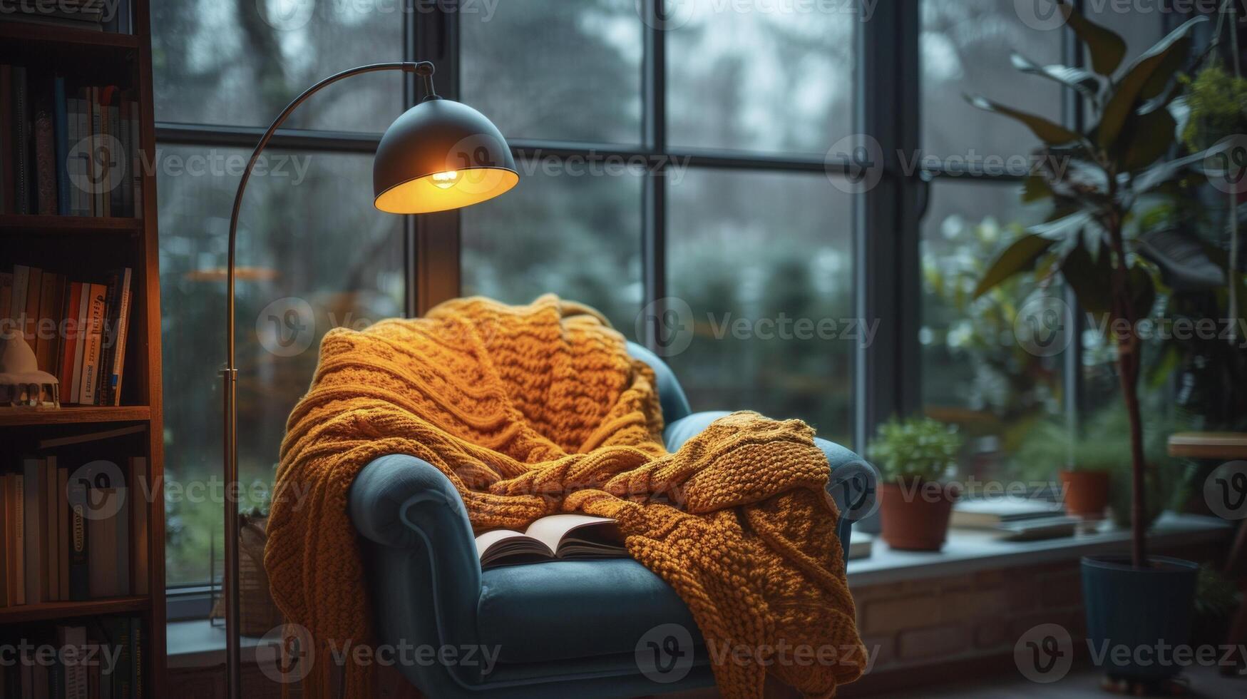
MULTIPOLYGON (((1232 524, 1221 519, 1166 513, 1152 525, 1147 539, 1157 548, 1207 543, 1227 537, 1231 529, 1232 524)), ((1072 560, 1087 554, 1121 552, 1129 540, 1130 530, 1117 528, 1040 542, 1001 542, 990 532, 951 529, 944 550, 918 553, 892 550, 877 537, 869 558, 849 562, 848 578, 850 587, 863 587, 1072 560)), ((170 669, 206 668, 224 663, 223 627, 213 627, 207 619, 198 619, 171 622, 167 628, 170 669)), ((243 657, 252 655, 258 644, 257 638, 243 638, 243 657)))

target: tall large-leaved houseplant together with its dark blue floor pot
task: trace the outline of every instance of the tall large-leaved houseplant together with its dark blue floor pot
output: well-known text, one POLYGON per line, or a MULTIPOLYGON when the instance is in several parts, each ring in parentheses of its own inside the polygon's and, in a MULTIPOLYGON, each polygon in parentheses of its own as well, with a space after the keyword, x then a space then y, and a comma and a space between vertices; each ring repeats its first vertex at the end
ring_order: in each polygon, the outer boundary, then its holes
MULTIPOLYGON (((1141 338, 1135 330, 1156 298, 1155 267, 1127 241, 1126 222, 1141 197, 1200 165, 1208 151, 1166 160, 1176 141, 1170 111, 1180 94, 1176 75, 1187 61, 1196 17, 1173 30, 1124 69, 1126 42, 1067 4, 1059 4, 1066 24, 1086 44, 1090 69, 1040 66, 1014 54, 1025 74, 1055 80, 1082 95, 1094 112, 1089 127, 1075 131, 1038 115, 983 97, 980 109, 1025 124, 1042 141, 1041 171, 1028 177, 1026 201, 1051 200, 1050 220, 1020 237, 989 267, 981 295, 1024 271, 1041 282, 1060 277, 1089 313, 1106 317, 1116 347, 1117 374, 1130 424, 1131 552, 1129 557, 1082 559, 1087 638, 1130 649, 1186 643, 1198 567, 1188 560, 1148 557, 1146 540, 1146 459, 1139 408, 1141 338), (1119 70, 1120 69, 1120 70, 1119 70)), ((1231 22, 1233 26, 1233 22, 1231 22)), ((1172 664, 1136 663, 1104 654, 1110 677, 1146 688, 1181 669, 1172 664)))

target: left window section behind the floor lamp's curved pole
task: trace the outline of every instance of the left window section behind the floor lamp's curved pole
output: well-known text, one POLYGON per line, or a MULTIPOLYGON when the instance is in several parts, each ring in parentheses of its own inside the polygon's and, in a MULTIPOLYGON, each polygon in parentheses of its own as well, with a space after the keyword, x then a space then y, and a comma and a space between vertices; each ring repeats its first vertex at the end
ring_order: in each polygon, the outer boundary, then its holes
MULTIPOLYGON (((393 16, 352 2, 298 5, 314 7, 307 21, 276 1, 152 4, 171 587, 221 572, 226 232, 246 159, 315 80, 403 59, 393 16)), ((304 130, 297 150, 279 139, 247 187, 234 321, 248 509, 266 506, 286 417, 324 332, 404 313, 404 222, 370 203, 370 152, 403 106, 397 74, 330 86, 292 119, 304 130)))

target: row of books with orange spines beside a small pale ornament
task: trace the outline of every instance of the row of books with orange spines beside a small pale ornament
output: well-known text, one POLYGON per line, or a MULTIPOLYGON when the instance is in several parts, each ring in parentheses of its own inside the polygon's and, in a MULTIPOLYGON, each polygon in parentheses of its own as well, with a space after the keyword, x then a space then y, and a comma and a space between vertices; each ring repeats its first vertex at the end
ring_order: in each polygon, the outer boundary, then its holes
POLYGON ((26 265, 0 272, 0 332, 21 332, 39 368, 59 381, 61 404, 121 404, 131 277, 130 267, 104 283, 26 265))

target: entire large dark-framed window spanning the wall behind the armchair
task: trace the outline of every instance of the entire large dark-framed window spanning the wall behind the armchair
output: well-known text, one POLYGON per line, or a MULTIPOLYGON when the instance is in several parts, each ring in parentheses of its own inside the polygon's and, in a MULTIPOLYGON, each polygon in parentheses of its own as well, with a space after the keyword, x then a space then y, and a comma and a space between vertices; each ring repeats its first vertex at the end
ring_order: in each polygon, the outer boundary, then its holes
MULTIPOLYGON (((247 484, 269 483, 327 330, 456 293, 596 306, 665 354, 695 409, 797 417, 857 448, 877 421, 922 409, 971 437, 968 473, 1025 473, 1030 426, 1070 414, 1082 382, 1110 382, 1111 357, 1028 348, 1025 306, 1060 303, 1060 288, 969 300, 985 262, 1045 212, 1019 203, 1016 167, 989 161, 1025 164, 1031 135, 963 94, 1079 115, 1010 66, 1013 50, 1040 64, 1079 52, 1020 6, 153 4, 170 584, 208 583, 222 549, 222 268, 242 164, 294 95, 368 62, 435 60, 441 94, 508 137, 520 185, 456 213, 379 213, 370 155, 415 81, 353 79, 299 109, 242 208, 247 484), (195 483, 207 489, 182 488, 195 483)), ((1173 17, 1100 19, 1137 52, 1173 17)))

